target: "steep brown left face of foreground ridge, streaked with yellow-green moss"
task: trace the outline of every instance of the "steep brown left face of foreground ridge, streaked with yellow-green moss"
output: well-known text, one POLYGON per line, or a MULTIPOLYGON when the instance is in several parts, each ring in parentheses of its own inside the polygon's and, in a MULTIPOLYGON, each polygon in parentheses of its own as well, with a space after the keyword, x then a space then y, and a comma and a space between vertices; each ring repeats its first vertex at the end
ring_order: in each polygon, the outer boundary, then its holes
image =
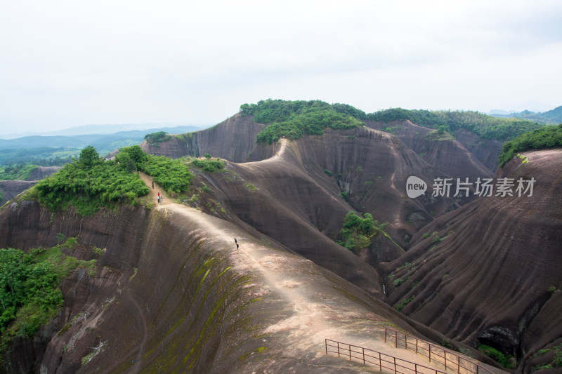
POLYGON ((226 372, 260 347, 252 307, 241 308, 255 298, 248 279, 228 272, 198 222, 130 206, 88 218, 73 209, 51 215, 32 201, 4 209, 0 222, 1 248, 53 246, 60 232, 79 240, 65 254, 97 259, 95 276, 79 270, 63 282, 63 309, 36 336, 45 335, 44 345, 19 340, 4 370, 226 372))

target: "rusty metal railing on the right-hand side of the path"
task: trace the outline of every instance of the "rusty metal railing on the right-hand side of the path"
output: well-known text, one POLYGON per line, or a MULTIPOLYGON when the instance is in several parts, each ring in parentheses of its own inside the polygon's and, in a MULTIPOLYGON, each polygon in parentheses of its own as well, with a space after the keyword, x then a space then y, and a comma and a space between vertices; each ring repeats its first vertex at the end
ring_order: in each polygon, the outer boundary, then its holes
POLYGON ((415 351, 422 356, 426 356, 429 362, 440 363, 445 366, 445 370, 455 370, 459 374, 492 374, 488 368, 470 361, 463 356, 459 356, 455 352, 450 352, 440 345, 435 345, 425 340, 400 333, 391 328, 384 329, 384 342, 394 341, 394 347, 405 348, 415 351))

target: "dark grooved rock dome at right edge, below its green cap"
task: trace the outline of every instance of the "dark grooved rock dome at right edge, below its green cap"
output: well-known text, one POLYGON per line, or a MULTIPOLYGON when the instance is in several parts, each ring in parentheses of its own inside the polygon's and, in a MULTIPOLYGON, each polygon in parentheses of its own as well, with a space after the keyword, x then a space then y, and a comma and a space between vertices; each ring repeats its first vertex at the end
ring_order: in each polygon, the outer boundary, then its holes
POLYGON ((548 290, 562 283, 562 151, 524 155, 528 163, 514 158, 495 178, 535 178, 532 196, 486 197, 443 215, 384 266, 394 274, 391 304, 415 296, 403 313, 455 340, 514 354, 521 367, 562 336, 561 299, 548 290), (421 237, 434 231, 442 241, 421 237))

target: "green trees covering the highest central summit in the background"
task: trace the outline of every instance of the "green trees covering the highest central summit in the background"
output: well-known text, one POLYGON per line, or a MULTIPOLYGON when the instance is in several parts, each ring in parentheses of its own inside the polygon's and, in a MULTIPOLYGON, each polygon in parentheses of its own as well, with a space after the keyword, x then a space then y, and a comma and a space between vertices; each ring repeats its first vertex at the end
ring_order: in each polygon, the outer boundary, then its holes
POLYGON ((299 139, 305 134, 322 135, 326 128, 347 129, 362 126, 363 123, 359 119, 346 114, 353 112, 351 108, 353 107, 342 104, 334 107, 320 100, 268 99, 257 104, 243 104, 240 106, 240 113, 244 116, 254 116, 256 122, 270 123, 256 136, 256 142, 272 144, 282 137, 299 139))

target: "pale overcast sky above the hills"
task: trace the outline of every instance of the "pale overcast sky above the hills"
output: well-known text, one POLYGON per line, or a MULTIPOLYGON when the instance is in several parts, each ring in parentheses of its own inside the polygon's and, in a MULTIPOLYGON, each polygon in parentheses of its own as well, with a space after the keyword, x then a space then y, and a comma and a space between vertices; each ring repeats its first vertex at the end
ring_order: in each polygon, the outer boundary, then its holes
POLYGON ((0 134, 214 124, 268 98, 546 111, 561 19, 559 0, 0 0, 0 134))

